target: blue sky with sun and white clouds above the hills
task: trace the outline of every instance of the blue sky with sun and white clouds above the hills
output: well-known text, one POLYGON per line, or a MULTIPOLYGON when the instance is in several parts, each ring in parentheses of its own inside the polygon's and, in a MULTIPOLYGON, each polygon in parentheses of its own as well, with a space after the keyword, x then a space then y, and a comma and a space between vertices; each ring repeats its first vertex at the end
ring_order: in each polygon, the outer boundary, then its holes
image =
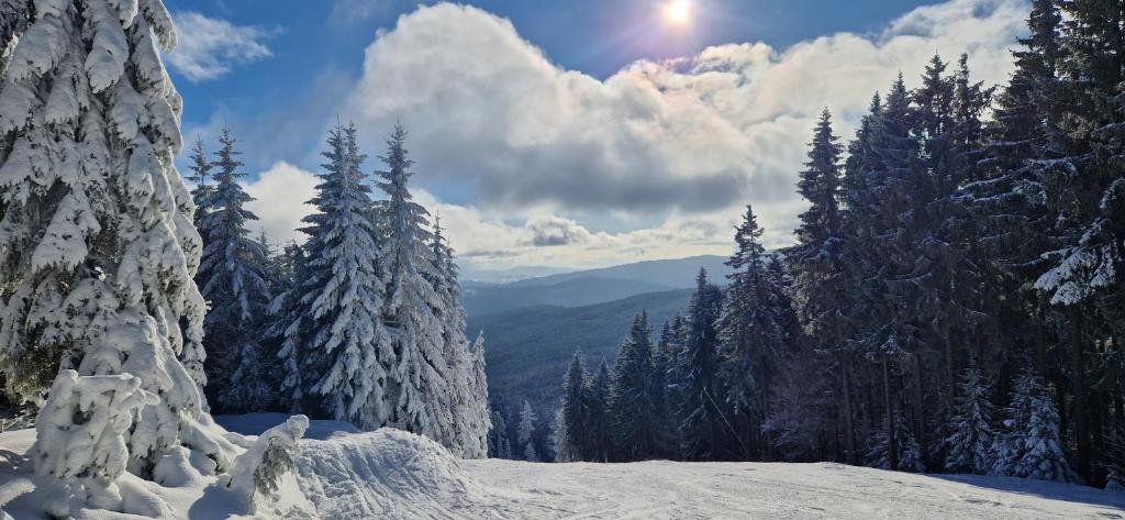
MULTIPOLYGON (((1001 82, 1026 0, 166 0, 188 138, 228 125, 277 240, 298 237, 338 117, 412 131, 418 198, 471 269, 724 253, 755 205, 772 245, 819 110, 847 136, 934 53, 1001 82)), ((375 160, 368 169, 375 167, 375 160)))

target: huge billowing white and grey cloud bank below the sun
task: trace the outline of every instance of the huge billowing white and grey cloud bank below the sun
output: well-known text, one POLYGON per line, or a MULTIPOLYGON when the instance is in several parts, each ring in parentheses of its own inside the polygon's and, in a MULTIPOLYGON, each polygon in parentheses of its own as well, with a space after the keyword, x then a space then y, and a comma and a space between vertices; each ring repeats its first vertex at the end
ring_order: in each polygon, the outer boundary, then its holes
MULTIPOLYGON (((377 37, 340 113, 370 151, 403 120, 416 179, 469 190, 497 222, 539 213, 588 227, 582 215, 612 212, 663 223, 618 240, 708 222, 720 231, 711 241, 729 242, 724 226, 753 203, 781 244, 803 208, 794 182, 825 106, 849 137, 871 95, 900 71, 916 83, 934 53, 968 51, 978 79, 1001 82, 1027 11, 1025 0, 952 0, 874 35, 722 45, 600 80, 560 69, 506 19, 443 3, 377 37)), ((596 248, 597 236, 556 249, 596 248)))

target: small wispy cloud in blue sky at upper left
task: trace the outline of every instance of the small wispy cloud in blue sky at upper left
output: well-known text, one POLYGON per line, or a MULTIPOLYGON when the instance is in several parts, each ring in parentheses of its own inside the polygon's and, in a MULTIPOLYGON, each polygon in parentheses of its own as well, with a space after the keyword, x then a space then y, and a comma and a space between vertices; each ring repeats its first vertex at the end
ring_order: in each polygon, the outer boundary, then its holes
POLYGON ((213 80, 235 65, 272 55, 263 43, 272 30, 236 26, 195 11, 176 12, 172 18, 179 44, 168 54, 168 61, 188 81, 213 80))

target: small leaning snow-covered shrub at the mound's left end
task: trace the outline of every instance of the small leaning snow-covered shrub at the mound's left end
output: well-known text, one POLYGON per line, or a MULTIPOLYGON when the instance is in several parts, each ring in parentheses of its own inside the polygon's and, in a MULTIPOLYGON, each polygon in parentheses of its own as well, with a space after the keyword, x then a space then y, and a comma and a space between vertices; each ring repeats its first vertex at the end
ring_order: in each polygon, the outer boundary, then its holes
POLYGON ((308 418, 294 415, 266 430, 246 452, 234 459, 226 487, 238 493, 251 511, 255 493, 272 496, 278 491, 278 479, 292 469, 297 441, 305 436, 307 428, 308 418))

